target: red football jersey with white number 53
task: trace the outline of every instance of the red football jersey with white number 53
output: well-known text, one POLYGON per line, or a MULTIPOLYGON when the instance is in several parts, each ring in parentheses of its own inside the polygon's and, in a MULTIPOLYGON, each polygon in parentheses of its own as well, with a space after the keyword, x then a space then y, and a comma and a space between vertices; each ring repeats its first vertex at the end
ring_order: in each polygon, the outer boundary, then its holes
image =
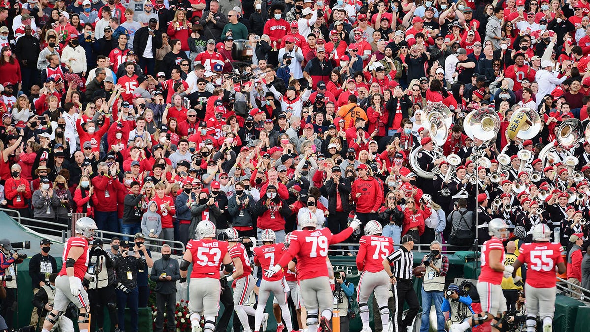
POLYGON ((192 255, 191 278, 219 279, 219 267, 228 252, 227 242, 214 239, 190 240, 186 250, 192 255))

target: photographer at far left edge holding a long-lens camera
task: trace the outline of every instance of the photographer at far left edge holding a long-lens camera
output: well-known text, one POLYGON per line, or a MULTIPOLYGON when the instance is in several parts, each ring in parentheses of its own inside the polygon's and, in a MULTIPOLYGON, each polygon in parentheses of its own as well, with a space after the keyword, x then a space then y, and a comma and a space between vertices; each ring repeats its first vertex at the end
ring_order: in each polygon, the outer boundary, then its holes
POLYGON ((27 255, 13 253, 9 239, 0 240, 0 278, 5 280, 6 297, 2 300, 0 315, 6 320, 8 328, 12 326, 14 311, 17 307, 17 271, 15 264, 22 263, 27 255), (11 254, 12 253, 12 254, 11 254), (24 256, 24 257, 23 257, 24 256))

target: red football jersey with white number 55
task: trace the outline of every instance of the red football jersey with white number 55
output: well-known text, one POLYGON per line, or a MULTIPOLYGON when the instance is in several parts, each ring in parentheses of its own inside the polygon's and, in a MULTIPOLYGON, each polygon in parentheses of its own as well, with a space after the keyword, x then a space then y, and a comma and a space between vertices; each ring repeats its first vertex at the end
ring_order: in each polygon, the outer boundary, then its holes
POLYGON ((555 266, 563 262, 563 247, 558 243, 525 243, 518 260, 527 263, 526 283, 535 288, 555 287, 555 266))

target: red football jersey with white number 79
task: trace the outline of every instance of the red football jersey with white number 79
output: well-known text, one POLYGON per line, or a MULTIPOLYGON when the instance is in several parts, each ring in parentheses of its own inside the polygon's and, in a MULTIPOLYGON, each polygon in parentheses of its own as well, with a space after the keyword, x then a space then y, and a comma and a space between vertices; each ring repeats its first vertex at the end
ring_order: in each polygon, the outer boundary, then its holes
MULTIPOLYGON (((332 240, 332 232, 328 228, 318 230, 294 230, 291 233, 291 244, 287 251, 287 258, 297 257, 297 272, 299 279, 312 279, 320 276, 328 276, 328 247, 332 240)), ((281 259, 281 266, 287 266, 289 261, 283 263, 286 258, 281 259)))

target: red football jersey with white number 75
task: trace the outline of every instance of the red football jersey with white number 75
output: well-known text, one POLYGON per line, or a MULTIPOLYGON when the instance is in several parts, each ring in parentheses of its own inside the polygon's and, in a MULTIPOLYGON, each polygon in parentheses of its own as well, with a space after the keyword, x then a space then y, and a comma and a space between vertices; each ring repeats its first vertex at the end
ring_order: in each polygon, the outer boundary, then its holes
POLYGON ((360 237, 360 249, 356 256, 359 271, 379 272, 383 269, 383 259, 394 251, 394 239, 381 235, 363 235, 360 237))

